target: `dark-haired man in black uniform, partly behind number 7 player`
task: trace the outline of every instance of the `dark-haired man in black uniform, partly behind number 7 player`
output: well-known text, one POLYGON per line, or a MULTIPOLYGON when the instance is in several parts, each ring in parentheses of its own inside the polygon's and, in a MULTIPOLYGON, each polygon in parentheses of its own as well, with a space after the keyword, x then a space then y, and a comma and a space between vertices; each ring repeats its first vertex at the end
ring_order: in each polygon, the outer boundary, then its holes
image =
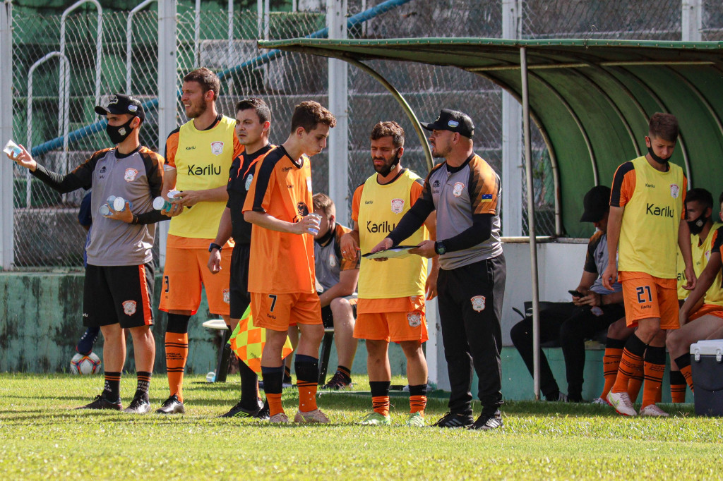
MULTIPOLYGON (((221 223, 213 243, 223 246, 234 238, 231 252, 231 279, 228 286, 231 324, 236 329, 239 319, 251 303, 249 295, 249 249, 251 224, 244 220, 244 201, 258 162, 275 146, 269 144, 271 110, 260 98, 252 97, 236 104, 236 136, 244 146, 244 152, 234 159, 228 173, 228 202, 223 209, 221 223)), ((208 269, 212 274, 221 272, 221 251, 214 248, 208 256, 208 269)), ((268 419, 268 405, 259 397, 258 376, 244 361, 239 359, 241 374, 241 400, 221 417, 255 417, 268 419)))

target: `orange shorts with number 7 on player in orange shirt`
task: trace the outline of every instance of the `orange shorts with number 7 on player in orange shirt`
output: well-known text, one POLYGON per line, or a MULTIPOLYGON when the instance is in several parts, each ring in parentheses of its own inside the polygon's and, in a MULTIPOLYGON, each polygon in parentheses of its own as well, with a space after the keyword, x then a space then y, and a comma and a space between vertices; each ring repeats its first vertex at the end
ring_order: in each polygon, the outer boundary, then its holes
POLYGON ((254 326, 286 331, 292 324, 322 324, 317 293, 251 293, 254 326))

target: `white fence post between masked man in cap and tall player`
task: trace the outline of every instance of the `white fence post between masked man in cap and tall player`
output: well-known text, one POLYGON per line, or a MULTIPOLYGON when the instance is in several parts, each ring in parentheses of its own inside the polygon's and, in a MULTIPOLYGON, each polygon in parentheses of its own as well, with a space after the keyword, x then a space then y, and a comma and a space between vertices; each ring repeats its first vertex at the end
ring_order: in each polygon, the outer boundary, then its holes
MULTIPOLYGON (((158 149, 163 152, 166 137, 176 128, 176 0, 158 2, 158 149)), ((161 267, 166 265, 168 222, 161 222, 158 247, 161 267)))

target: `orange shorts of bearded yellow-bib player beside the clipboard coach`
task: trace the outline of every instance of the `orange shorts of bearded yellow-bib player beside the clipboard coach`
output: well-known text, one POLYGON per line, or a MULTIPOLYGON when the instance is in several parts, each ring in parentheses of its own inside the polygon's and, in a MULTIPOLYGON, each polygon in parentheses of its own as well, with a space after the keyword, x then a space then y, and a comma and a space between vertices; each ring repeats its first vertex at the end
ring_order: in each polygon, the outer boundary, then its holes
POLYGON ((359 299, 356 305, 356 339, 427 342, 424 295, 394 299, 359 299))

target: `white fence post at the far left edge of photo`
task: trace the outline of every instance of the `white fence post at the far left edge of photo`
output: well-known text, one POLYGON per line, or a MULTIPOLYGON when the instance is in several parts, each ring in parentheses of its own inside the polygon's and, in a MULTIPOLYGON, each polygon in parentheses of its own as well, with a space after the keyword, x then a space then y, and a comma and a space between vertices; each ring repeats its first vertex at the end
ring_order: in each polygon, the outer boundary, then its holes
MULTIPOLYGON (((12 138, 12 3, 0 4, 0 145, 12 138)), ((16 142, 17 143, 17 142, 16 142)), ((0 261, 12 268, 13 256, 13 162, 0 162, 0 261)))

